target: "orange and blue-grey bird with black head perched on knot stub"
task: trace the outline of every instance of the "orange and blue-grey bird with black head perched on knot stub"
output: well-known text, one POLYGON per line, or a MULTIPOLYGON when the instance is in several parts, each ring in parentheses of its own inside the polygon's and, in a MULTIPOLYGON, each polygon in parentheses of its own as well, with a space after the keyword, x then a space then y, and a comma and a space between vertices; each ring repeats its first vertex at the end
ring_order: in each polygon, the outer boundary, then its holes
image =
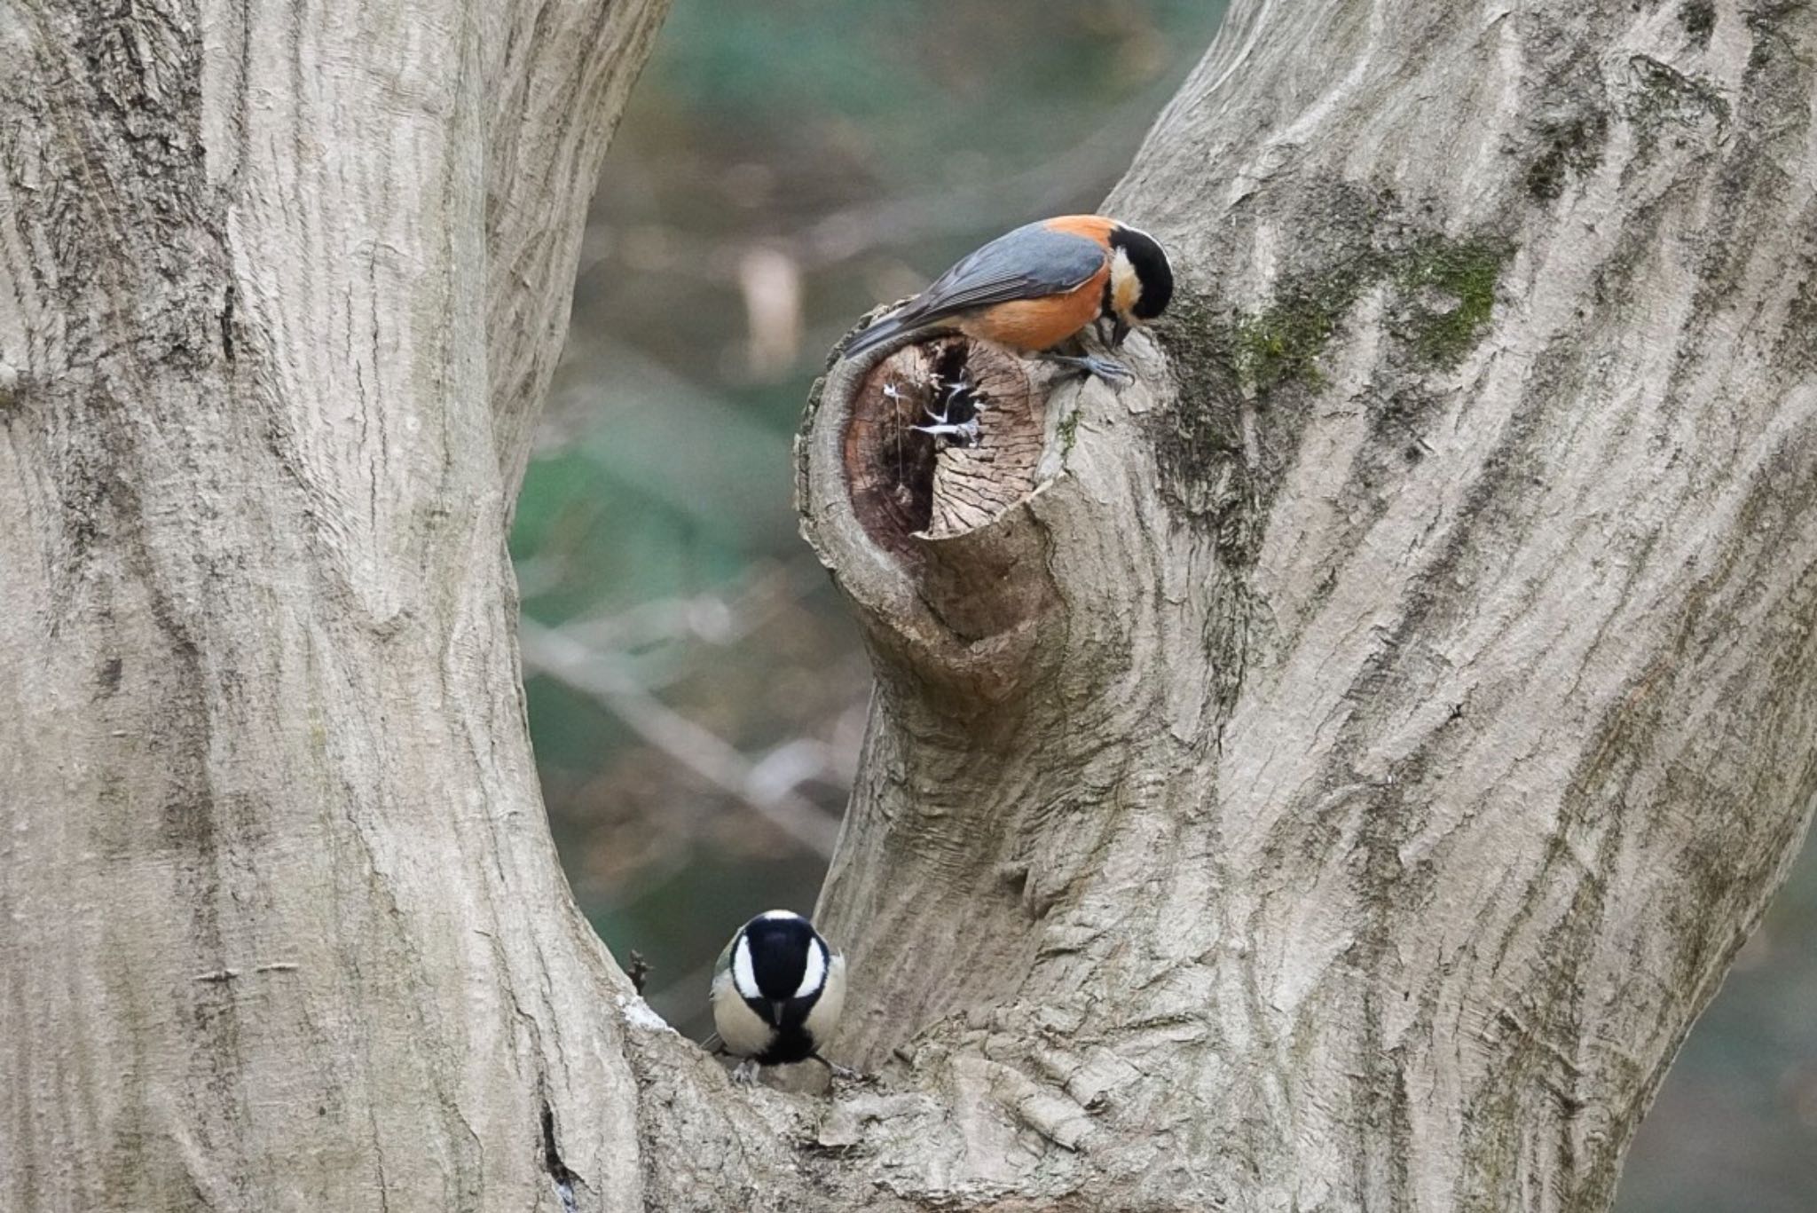
MULTIPOLYGON (((1023 353, 1047 353, 1108 320, 1116 349, 1174 296, 1174 269, 1154 236, 1103 215, 1065 215, 998 236, 912 300, 852 338, 845 356, 898 338, 959 331, 1023 353)), ((1103 380, 1121 362, 1048 355, 1103 380)))

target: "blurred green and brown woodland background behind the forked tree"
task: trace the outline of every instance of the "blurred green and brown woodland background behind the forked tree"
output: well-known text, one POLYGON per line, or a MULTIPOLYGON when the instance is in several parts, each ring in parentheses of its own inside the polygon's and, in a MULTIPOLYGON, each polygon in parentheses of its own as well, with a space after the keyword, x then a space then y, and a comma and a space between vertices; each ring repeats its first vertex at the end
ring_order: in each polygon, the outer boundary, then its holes
MULTIPOLYGON (((1205 51, 1194 0, 676 0, 605 164, 518 506, 531 731, 581 907, 703 1037, 749 915, 814 906, 869 669, 794 435, 865 309, 1090 211, 1205 51)), ((1672 1071, 1624 1213, 1817 1209, 1817 857, 1672 1071)))

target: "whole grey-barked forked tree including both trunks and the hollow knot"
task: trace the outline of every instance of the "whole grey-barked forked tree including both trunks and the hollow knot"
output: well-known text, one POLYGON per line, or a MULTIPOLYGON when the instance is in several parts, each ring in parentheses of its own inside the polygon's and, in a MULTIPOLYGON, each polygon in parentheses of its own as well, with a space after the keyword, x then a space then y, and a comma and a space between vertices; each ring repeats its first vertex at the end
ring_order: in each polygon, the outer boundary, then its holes
POLYGON ((1136 386, 832 364, 829 1098, 632 995, 523 726, 660 9, 0 9, 0 1208, 1604 1209, 1817 795, 1817 13, 1239 2, 1136 386))

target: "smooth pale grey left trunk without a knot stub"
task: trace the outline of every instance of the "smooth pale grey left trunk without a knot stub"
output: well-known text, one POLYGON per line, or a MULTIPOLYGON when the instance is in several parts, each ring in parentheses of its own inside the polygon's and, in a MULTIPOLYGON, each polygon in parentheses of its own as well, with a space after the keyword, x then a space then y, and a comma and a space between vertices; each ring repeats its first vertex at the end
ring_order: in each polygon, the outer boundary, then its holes
POLYGON ((665 9, 0 5, 0 1208, 641 1208, 503 540, 665 9))

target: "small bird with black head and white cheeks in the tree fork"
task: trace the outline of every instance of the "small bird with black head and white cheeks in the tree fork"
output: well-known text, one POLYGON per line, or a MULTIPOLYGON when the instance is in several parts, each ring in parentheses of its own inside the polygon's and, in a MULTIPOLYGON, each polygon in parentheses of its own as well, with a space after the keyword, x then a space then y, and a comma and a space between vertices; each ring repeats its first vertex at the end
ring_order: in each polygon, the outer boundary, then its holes
POLYGON ((801 915, 770 909, 738 927, 712 969, 714 1051, 745 1058, 736 1082, 756 1078, 758 1066, 816 1060, 849 1075, 819 1049, 845 1007, 845 957, 801 915))

